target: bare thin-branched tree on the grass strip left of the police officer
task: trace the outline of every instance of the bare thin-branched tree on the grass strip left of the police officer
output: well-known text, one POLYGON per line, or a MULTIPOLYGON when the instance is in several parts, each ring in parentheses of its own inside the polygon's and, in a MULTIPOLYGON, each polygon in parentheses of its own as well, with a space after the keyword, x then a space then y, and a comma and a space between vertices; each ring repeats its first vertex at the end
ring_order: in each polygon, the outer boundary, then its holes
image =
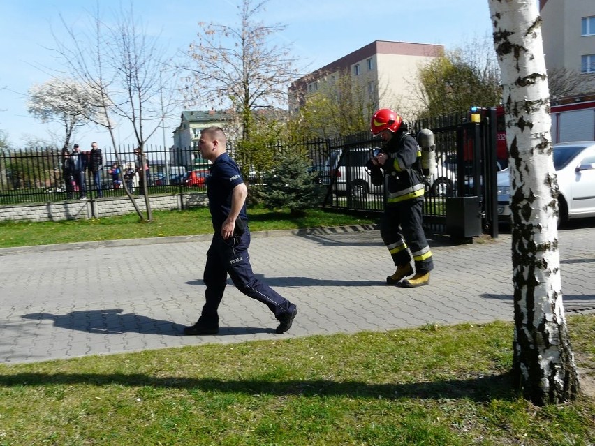
MULTIPOLYGON (((128 122, 140 149, 140 175, 145 175, 145 142, 161 126, 163 119, 177 106, 175 87, 166 88, 164 81, 175 79, 175 73, 157 44, 148 38, 135 15, 133 6, 115 15, 110 27, 101 19, 99 10, 91 17, 89 33, 78 34, 64 22, 70 40, 58 42, 58 52, 75 79, 94 89, 102 110, 103 125, 110 133, 119 165, 122 165, 115 140, 115 127, 128 122), (168 68, 168 69, 166 69, 168 68), (166 73, 166 79, 163 78, 166 73)), ((148 179, 145 179, 148 180, 148 179)), ((133 202, 141 219, 145 219, 131 191, 123 181, 124 191, 133 202)), ((147 220, 152 211, 147 193, 148 181, 143 181, 147 220)))

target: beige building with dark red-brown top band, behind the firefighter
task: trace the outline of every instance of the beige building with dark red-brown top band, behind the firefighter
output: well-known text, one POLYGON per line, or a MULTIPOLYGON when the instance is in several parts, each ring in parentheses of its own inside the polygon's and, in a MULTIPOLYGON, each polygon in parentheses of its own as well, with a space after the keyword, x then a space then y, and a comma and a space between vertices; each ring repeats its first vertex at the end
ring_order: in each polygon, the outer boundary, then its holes
POLYGON ((293 82, 288 89, 289 111, 297 112, 309 94, 349 73, 373 108, 394 108, 412 119, 418 112, 418 70, 443 54, 443 45, 376 40, 293 82))

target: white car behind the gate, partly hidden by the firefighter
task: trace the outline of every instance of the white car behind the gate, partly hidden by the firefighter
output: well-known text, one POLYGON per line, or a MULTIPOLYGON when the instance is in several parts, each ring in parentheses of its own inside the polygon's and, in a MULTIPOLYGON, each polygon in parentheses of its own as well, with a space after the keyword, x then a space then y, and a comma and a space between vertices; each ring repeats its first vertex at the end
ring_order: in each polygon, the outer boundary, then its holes
MULTIPOLYGON (((333 190, 337 193, 349 193, 354 197, 365 198, 369 193, 382 193, 383 186, 374 186, 365 168, 373 149, 357 147, 350 149, 342 158, 342 149, 332 151, 329 160, 329 178, 335 179, 333 190), (341 164, 339 165, 339 161, 341 164), (349 171, 346 165, 350 165, 349 171)), ((455 186, 455 174, 443 165, 436 163, 434 173, 426 179, 426 191, 437 196, 452 195, 455 186)))

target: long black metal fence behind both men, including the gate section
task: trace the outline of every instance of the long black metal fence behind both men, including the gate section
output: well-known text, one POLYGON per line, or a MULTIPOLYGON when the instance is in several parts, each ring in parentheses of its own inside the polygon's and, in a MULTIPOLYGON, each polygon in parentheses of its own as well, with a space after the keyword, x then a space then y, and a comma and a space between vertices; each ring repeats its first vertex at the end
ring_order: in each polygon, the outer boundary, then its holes
MULTIPOLYGON (((495 121, 495 119, 494 119, 495 121)), ((424 223, 428 229, 443 230, 446 223, 446 201, 450 197, 477 195, 480 197, 485 227, 493 227, 495 213, 495 169, 492 158, 495 134, 490 119, 483 124, 471 124, 462 115, 420 120, 409 124, 414 135, 422 128, 434 132, 436 170, 427 177, 424 223), (487 123, 487 125, 485 125, 487 123), (472 151, 472 156, 469 156, 472 151), (483 160, 490 160, 484 163, 483 160), (492 172, 494 170, 494 172, 492 172), (484 181, 484 178, 486 181, 484 181)), ((494 143, 495 144, 495 143, 494 143)), ((365 169, 365 161, 381 140, 369 132, 330 139, 281 141, 266 149, 275 154, 300 150, 309 158, 311 170, 318 174, 323 190, 321 204, 325 209, 380 213, 384 208, 383 186, 374 186, 365 169)), ((249 158, 229 144, 230 155, 240 164, 247 182, 256 182, 258 173, 249 158)), ((118 147, 117 151, 103 148, 103 167, 99 172, 102 195, 124 195, 119 182, 127 181, 124 170, 135 167, 137 158, 133 146, 118 147), (120 168, 115 174, 114 164, 120 168)), ((88 152, 87 152, 88 153, 88 152)), ((200 158, 198 148, 163 149, 145 147, 149 165, 149 194, 179 193, 204 190, 207 163, 200 158)), ((495 159, 494 165, 495 165, 495 159)), ((61 150, 34 148, 11 151, 0 156, 0 205, 30 202, 50 202, 71 198, 64 176, 61 150)), ((87 197, 98 196, 97 185, 87 172, 87 197)), ((127 184, 133 193, 140 193, 138 175, 127 184)), ((77 191, 74 191, 76 195, 77 191)))

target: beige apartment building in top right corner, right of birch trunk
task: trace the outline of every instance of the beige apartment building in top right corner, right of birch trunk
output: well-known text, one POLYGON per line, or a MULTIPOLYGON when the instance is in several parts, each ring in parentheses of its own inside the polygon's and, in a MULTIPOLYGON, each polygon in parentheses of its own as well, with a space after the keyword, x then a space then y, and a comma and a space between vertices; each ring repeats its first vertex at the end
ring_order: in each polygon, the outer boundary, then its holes
POLYGON ((540 0, 548 69, 595 74, 595 0, 540 0))

